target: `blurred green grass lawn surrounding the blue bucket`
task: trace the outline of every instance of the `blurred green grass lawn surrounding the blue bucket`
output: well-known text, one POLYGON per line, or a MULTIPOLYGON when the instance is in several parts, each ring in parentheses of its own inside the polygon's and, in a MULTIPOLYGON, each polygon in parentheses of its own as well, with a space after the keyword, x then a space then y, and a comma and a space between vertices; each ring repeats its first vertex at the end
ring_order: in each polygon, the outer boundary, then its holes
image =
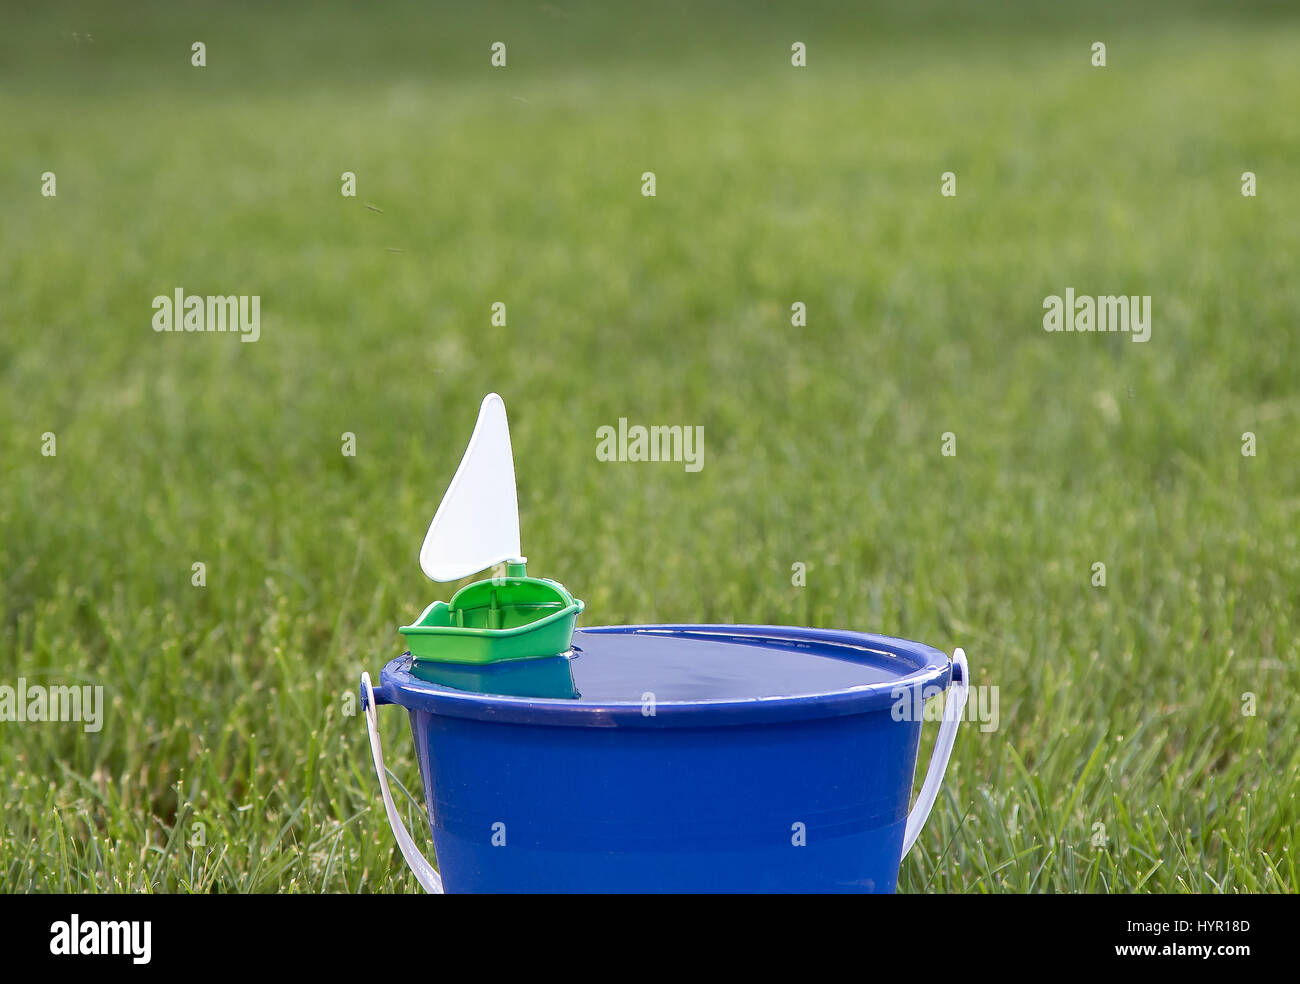
POLYGON ((1283 10, 14 12, 0 684, 109 711, 0 723, 0 888, 415 888, 346 711, 497 390, 588 624, 861 628, 1000 688, 902 890, 1300 890, 1283 10), (177 286, 260 294, 261 339, 155 334, 177 286), (1067 286, 1152 339, 1044 333, 1067 286), (703 425, 703 471, 598 461, 620 416, 703 425))

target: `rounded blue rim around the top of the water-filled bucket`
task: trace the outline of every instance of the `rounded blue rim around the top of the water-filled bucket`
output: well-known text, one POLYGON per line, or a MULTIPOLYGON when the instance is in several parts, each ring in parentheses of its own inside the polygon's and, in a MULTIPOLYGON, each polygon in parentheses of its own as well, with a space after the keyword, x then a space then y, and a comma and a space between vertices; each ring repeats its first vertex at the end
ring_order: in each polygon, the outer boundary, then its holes
MULTIPOLYGON (((741 697, 656 701, 653 715, 640 701, 584 702, 569 698, 532 698, 454 690, 420 680, 411 673, 412 656, 406 653, 387 663, 374 688, 377 703, 393 703, 412 712, 468 718, 493 723, 577 728, 680 728, 762 724, 783 720, 838 718, 888 711, 902 697, 913 699, 918 688, 941 692, 952 681, 952 660, 933 646, 892 636, 876 636, 845 629, 814 629, 794 625, 593 625, 588 634, 637 633, 680 636, 755 637, 785 641, 823 642, 862 649, 878 655, 906 660, 910 672, 892 680, 862 684, 841 690, 796 697, 741 697)), ((920 721, 915 724, 919 727, 920 721)))

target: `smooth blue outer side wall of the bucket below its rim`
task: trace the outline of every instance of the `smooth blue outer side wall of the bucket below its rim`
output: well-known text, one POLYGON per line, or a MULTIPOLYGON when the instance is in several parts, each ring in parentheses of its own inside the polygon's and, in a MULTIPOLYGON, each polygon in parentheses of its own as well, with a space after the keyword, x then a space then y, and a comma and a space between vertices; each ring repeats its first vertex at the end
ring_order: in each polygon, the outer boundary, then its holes
POLYGON ((894 890, 919 721, 410 715, 448 892, 894 890))

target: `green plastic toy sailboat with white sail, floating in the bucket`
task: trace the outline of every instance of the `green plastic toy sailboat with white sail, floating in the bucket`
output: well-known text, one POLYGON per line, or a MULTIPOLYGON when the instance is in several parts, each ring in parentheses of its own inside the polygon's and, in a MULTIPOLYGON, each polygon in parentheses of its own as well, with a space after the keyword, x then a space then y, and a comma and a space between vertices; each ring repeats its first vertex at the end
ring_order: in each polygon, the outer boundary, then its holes
POLYGON ((519 495, 506 404, 484 398, 469 447, 429 524, 420 567, 456 581, 497 564, 504 577, 476 581, 434 602, 399 632, 417 660, 488 664, 567 653, 582 611, 564 585, 528 577, 519 543, 519 495))

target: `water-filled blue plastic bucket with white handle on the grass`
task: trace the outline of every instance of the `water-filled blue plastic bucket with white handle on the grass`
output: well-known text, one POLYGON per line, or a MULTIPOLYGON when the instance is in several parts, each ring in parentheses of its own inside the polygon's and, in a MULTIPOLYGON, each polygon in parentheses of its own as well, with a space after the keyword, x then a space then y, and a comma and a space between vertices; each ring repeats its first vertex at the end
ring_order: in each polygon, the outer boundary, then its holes
POLYGON ((363 673, 389 819, 426 889, 893 892, 968 681, 961 650, 762 625, 580 629, 556 660, 538 693, 567 671, 559 697, 458 689, 410 655, 373 692, 363 673), (919 711, 949 684, 909 816, 919 711), (384 703, 410 712, 438 872, 387 789, 384 703))

